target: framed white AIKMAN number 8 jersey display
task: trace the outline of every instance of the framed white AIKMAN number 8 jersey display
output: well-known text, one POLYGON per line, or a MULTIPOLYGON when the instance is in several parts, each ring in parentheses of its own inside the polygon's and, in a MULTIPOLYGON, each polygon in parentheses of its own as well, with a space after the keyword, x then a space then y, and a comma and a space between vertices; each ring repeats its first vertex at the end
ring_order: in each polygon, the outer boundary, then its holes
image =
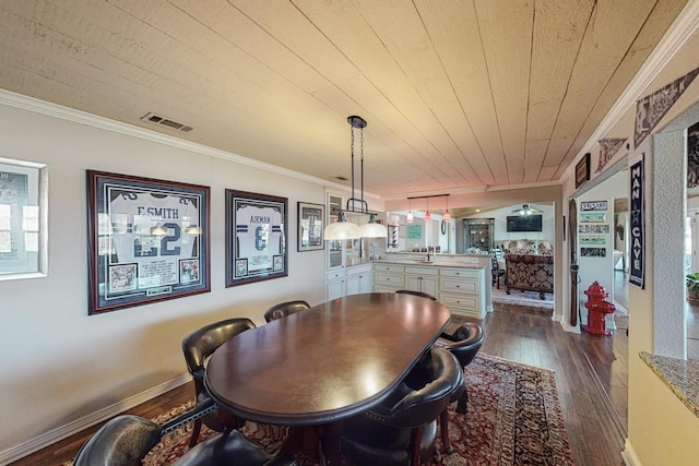
POLYGON ((285 277, 287 199, 226 190, 226 287, 285 277))

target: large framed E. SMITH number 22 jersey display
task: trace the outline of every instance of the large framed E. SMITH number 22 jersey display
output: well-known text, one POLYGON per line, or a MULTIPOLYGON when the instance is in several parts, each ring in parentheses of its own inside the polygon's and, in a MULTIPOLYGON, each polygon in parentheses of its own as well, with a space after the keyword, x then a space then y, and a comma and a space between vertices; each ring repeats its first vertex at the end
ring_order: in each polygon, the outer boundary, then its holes
POLYGON ((209 292, 209 187, 87 170, 90 314, 209 292))

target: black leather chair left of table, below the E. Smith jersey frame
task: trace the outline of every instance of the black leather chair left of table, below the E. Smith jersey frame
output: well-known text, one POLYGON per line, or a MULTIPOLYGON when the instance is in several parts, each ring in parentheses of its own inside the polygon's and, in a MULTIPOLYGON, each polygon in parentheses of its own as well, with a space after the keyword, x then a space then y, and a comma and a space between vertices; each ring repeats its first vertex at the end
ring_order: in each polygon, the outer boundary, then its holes
MULTIPOLYGON (((197 403, 203 403, 206 399, 211 399, 209 393, 204 389, 206 359, 228 339, 241 332, 254 327, 254 322, 250 319, 233 318, 204 325, 182 339, 182 353, 185 354, 187 369, 194 380, 194 396, 197 403)), ((226 415, 225 418, 225 425, 216 413, 196 420, 192 430, 192 439, 189 445, 193 446, 199 441, 199 432, 201 431, 202 423, 218 432, 223 431, 225 427, 241 427, 244 423, 242 420, 235 418, 233 415, 226 415)))

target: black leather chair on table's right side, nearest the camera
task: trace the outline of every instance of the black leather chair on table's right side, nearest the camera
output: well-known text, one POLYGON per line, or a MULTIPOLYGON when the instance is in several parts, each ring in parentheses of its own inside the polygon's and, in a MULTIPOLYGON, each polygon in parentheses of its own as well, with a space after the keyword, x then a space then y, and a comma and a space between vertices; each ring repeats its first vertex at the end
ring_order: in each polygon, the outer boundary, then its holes
POLYGON ((387 399, 344 422, 342 454, 357 465, 419 465, 439 461, 437 418, 463 386, 453 355, 433 347, 387 399))

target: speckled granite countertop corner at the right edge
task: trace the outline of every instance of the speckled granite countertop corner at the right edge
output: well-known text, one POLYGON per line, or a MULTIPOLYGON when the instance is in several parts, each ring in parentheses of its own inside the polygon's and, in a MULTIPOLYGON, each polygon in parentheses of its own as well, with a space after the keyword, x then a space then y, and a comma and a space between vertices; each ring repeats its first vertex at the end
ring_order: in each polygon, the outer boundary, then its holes
POLYGON ((699 417, 699 361, 639 353, 639 357, 665 385, 699 417))

